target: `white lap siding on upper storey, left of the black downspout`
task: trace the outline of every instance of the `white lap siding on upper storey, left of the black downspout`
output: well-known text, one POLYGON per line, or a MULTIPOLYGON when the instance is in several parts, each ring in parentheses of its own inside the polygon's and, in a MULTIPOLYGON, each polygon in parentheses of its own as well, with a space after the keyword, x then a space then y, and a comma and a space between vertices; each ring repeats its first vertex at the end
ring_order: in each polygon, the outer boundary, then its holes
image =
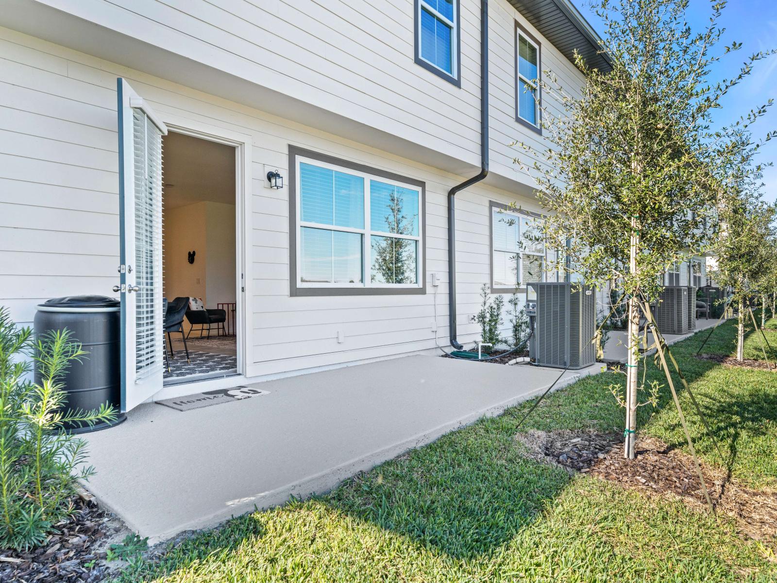
POLYGON ((415 64, 414 0, 44 2, 476 163, 479 0, 461 0, 460 89, 415 64))

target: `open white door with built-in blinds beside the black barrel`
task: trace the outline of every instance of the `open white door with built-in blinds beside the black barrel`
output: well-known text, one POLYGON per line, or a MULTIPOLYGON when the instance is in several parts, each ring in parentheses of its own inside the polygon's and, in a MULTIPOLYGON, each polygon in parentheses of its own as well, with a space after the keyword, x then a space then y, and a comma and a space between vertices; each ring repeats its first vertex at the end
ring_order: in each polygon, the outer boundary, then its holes
POLYGON ((121 294, 121 410, 162 389, 162 124, 117 79, 121 294))

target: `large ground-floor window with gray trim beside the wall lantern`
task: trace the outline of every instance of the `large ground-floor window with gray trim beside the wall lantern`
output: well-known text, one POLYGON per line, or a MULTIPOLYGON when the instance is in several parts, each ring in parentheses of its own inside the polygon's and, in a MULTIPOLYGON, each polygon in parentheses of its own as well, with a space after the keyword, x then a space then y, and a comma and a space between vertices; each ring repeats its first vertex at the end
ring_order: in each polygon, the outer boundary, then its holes
POLYGON ((424 184, 289 148, 291 295, 423 293, 424 184))

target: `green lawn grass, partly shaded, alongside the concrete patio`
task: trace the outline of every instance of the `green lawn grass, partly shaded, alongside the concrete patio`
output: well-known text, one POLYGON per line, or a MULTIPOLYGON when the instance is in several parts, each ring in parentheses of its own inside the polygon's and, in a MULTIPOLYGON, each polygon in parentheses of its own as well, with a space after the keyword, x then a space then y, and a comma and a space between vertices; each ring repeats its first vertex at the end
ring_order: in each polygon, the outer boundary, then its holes
MULTIPOLYGON (((726 459, 683 394, 699 453, 751 487, 777 488, 777 376, 693 358, 703 335, 672 347, 726 459)), ((729 354, 733 341, 726 323, 704 351, 729 354)), ((661 378, 652 363, 648 375, 661 378)), ((773 550, 737 535, 726 516, 521 456, 515 435, 528 428, 622 431, 623 410, 608 386, 623 378, 582 379, 549 396, 520 430, 531 403, 444 435, 326 496, 201 532, 132 564, 118 580, 777 581, 773 550)), ((657 410, 643 407, 639 417, 643 431, 685 447, 667 391, 657 410)))

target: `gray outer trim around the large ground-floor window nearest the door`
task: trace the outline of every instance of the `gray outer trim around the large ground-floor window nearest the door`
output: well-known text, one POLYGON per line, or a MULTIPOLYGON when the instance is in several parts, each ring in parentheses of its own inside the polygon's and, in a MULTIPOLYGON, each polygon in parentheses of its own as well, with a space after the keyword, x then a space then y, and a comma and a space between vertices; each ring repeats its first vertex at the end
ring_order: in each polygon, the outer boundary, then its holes
MULTIPOLYGON (((382 169, 366 166, 357 162, 350 162, 335 156, 313 152, 305 148, 289 145, 289 295, 291 297, 302 296, 322 296, 322 295, 425 295, 427 293, 427 183, 422 180, 415 180, 387 172, 382 169), (310 158, 326 162, 335 166, 342 166, 364 172, 382 176, 388 180, 403 182, 418 187, 421 193, 420 207, 420 228, 421 245, 423 249, 421 257, 421 286, 420 288, 300 288, 297 285, 297 158, 310 158)), ((365 277, 368 274, 365 274, 365 277)))

